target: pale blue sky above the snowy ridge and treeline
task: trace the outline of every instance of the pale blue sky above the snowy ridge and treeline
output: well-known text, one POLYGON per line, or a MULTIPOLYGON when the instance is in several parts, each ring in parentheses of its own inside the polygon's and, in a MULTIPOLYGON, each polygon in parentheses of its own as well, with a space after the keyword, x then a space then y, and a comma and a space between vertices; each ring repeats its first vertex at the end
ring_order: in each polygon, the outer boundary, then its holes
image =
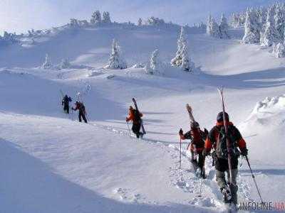
MULTIPOLYGON (((278 1, 278 0, 277 0, 278 1)), ((285 0, 279 0, 285 2, 285 0)), ((274 0, 0 0, 0 35, 3 31, 25 33, 51 28, 70 18, 90 19, 95 10, 109 11, 113 21, 132 21, 150 16, 173 23, 205 21, 209 13, 218 18, 251 6, 274 4, 274 0)))

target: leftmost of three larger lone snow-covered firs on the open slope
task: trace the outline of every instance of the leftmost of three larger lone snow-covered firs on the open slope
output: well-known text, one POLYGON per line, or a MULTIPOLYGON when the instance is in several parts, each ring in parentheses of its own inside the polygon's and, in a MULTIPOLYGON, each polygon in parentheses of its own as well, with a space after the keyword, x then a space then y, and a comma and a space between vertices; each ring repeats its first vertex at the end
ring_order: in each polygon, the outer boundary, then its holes
POLYGON ((106 68, 121 70, 127 68, 127 62, 125 62, 125 59, 123 58, 122 53, 120 51, 120 46, 118 45, 118 42, 115 39, 113 39, 112 50, 106 68))

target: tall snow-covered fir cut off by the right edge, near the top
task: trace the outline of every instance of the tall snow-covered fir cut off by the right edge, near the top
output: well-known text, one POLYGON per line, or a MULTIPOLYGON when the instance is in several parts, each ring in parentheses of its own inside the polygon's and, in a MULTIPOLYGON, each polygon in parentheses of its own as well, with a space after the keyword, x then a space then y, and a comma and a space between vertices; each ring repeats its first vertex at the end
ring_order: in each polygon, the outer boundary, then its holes
POLYGON ((285 28, 285 16, 282 6, 280 4, 276 5, 275 15, 274 15, 274 25, 277 33, 277 38, 279 40, 284 40, 284 28, 285 28))

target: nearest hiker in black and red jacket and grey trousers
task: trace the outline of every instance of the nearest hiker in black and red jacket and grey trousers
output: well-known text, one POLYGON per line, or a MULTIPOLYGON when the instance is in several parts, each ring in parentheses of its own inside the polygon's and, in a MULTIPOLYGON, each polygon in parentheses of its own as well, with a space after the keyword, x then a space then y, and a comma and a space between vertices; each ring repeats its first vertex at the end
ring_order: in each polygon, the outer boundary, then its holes
POLYGON ((226 135, 224 130, 223 112, 217 115, 217 124, 214 126, 205 141, 204 145, 204 156, 209 155, 212 148, 212 153, 215 168, 216 168, 216 180, 219 185, 219 190, 224 195, 224 202, 234 203, 237 205, 237 165, 239 155, 247 155, 247 144, 242 138, 241 133, 237 127, 229 122, 229 114, 225 112, 225 119, 227 121, 228 133, 226 135), (230 141, 231 147, 231 158, 232 158, 232 185, 228 185, 229 182, 229 164, 227 160, 227 138, 230 141), (239 147, 239 150, 237 149, 239 147), (225 178, 225 172, 227 172, 227 181, 225 178))

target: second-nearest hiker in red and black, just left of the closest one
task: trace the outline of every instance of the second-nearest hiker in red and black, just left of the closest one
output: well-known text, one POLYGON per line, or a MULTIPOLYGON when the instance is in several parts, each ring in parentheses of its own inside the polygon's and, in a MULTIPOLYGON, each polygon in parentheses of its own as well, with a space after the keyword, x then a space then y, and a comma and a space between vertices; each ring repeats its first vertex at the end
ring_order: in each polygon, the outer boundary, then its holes
POLYGON ((190 131, 183 133, 182 129, 179 131, 180 138, 182 140, 190 139, 191 143, 187 146, 187 150, 191 152, 191 163, 195 169, 197 175, 205 178, 204 174, 204 156, 202 152, 204 150, 204 140, 207 137, 207 130, 203 132, 199 128, 199 123, 197 121, 191 121, 190 131), (197 161, 198 157, 198 161, 197 161))

